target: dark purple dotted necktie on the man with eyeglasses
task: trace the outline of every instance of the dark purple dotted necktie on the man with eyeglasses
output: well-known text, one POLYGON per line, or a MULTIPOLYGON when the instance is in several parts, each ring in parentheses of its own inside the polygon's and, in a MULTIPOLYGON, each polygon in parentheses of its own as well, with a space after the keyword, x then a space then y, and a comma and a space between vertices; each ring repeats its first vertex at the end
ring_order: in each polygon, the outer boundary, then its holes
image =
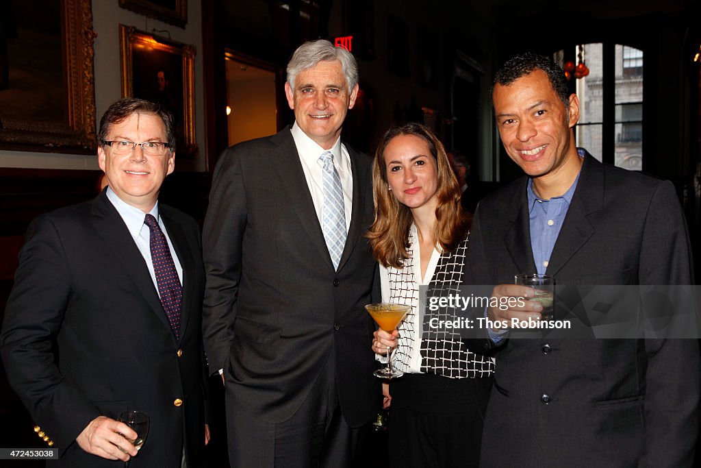
POLYGON ((173 258, 170 255, 168 242, 165 241, 163 231, 161 231, 161 227, 158 227, 158 221, 156 221, 154 215, 146 215, 144 225, 151 229, 151 261, 154 262, 158 295, 161 296, 161 304, 163 309, 165 309, 165 315, 168 316, 168 321, 177 340, 180 333, 180 310, 182 304, 180 279, 177 276, 175 263, 173 263, 173 258))

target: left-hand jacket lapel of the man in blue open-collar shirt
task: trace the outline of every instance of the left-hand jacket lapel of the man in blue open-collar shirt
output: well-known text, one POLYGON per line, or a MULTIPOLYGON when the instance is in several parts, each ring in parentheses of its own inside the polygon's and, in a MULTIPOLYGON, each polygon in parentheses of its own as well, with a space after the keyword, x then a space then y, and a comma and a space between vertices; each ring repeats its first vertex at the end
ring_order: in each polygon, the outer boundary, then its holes
POLYGON ((526 185, 528 178, 517 185, 510 205, 513 207, 510 215, 511 225, 504 236, 504 245, 509 251, 517 271, 514 274, 536 272, 536 261, 533 260, 531 246, 531 222, 529 220, 528 197, 526 185))

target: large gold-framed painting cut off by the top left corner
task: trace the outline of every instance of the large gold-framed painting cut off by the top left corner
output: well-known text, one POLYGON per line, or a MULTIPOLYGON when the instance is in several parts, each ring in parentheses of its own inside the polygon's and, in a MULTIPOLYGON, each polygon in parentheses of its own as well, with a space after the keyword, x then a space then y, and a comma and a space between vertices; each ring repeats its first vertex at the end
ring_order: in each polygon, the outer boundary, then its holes
POLYGON ((0 1, 0 149, 95 152, 94 38, 90 0, 0 1))

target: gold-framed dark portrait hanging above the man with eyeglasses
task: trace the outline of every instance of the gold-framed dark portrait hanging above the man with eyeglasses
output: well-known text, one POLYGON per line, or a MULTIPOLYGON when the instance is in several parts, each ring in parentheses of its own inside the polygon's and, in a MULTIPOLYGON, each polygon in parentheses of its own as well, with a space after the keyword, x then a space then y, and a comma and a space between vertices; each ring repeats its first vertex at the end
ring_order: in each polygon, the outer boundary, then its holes
POLYGON ((176 154, 195 156, 195 46, 119 25, 122 95, 158 102, 175 120, 176 154))

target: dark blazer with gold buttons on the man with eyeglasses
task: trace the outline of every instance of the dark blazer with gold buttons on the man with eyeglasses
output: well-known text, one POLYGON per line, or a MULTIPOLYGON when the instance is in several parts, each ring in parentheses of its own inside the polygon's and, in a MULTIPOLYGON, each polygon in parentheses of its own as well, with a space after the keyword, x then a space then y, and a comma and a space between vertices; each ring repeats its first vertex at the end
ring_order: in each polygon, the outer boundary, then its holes
POLYGON ((29 226, 0 345, 11 385, 60 450, 55 466, 121 466, 84 452, 75 439, 98 415, 114 418, 128 408, 151 421, 130 467, 179 467, 183 434, 189 466, 202 462, 199 230, 178 210, 161 204, 159 213, 183 268, 178 341, 146 262, 105 192, 29 226))

